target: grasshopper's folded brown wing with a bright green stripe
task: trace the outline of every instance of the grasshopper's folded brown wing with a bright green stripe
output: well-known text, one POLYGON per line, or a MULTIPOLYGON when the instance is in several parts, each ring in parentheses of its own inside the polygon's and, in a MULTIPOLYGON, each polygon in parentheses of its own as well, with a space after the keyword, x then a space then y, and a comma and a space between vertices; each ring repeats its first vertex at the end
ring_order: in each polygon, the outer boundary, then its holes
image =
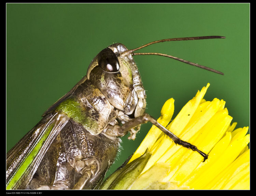
POLYGON ((45 115, 6 155, 6 189, 25 189, 44 154, 69 118, 58 112, 45 115))

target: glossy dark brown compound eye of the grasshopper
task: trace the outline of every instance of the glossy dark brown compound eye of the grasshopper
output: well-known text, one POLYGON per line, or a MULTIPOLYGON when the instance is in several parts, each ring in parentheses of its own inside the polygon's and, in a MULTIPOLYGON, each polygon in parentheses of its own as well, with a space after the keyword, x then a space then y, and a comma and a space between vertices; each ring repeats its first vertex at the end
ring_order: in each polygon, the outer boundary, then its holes
POLYGON ((117 73, 120 71, 118 58, 110 48, 105 48, 99 53, 98 64, 105 72, 117 73))

